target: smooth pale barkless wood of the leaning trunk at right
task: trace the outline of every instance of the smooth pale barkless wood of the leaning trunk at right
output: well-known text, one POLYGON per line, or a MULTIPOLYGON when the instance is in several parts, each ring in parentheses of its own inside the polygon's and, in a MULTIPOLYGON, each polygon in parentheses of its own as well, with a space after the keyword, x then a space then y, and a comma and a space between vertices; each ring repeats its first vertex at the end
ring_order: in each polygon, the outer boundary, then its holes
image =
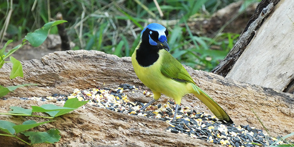
POLYGON ((283 91, 294 79, 294 0, 281 0, 226 77, 283 91))

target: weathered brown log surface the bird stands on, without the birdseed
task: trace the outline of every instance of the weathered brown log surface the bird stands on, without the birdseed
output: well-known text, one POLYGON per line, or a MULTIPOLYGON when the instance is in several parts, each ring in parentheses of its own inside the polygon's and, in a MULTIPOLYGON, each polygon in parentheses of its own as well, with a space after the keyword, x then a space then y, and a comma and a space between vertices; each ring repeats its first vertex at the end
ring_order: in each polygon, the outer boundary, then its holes
MULTIPOLYGON (((13 97, 50 96, 54 93, 68 94, 75 88, 87 89, 96 86, 116 88, 121 83, 143 86, 135 75, 130 57, 119 58, 116 55, 105 54, 100 51, 70 50, 57 51, 44 56, 41 60, 22 61, 24 78, 10 80, 11 64, 6 63, 0 70, 0 85, 13 86, 25 83, 35 83, 38 86, 22 87, 9 93, 8 100, 0 100, 0 112, 9 111, 9 106, 42 105, 41 101, 24 101, 13 97), (105 85, 104 85, 105 84, 105 85)), ((256 119, 253 109, 270 135, 286 135, 294 132, 294 95, 275 91, 261 86, 224 78, 214 73, 196 71, 186 67, 196 84, 206 91, 239 124, 249 124, 263 129, 256 119)), ((144 89, 147 89, 143 86, 144 89)), ((144 96, 142 96, 144 97, 144 96)), ((129 98, 135 97, 129 96, 129 98)), ((164 98, 161 98, 164 99, 164 98)), ((47 102, 49 103, 49 102, 47 102)), ((185 106, 197 106, 200 110, 210 113, 208 108, 196 97, 187 95, 182 100, 185 106)), ((25 121, 24 117, 0 116, 1 120, 12 122, 25 121)), ((35 118, 34 118, 35 119, 35 118)), ((62 139, 57 147, 115 144, 140 147, 219 147, 205 141, 193 139, 185 135, 165 132, 167 123, 137 116, 127 116, 122 113, 100 109, 86 105, 73 113, 57 117, 56 122, 34 128, 45 131, 58 128, 62 139), (144 124, 143 126, 139 123, 144 124)), ((37 121, 44 121, 38 119, 37 121)), ((0 137, 0 141, 5 141, 0 137)), ((11 138, 9 138, 11 140, 11 138)), ((16 140, 14 140, 16 141, 16 140)), ((10 141, 11 143, 11 141, 10 141)), ((13 142, 12 142, 13 143, 13 142)), ((0 142, 1 144, 1 142, 0 142)), ((46 145, 53 146, 53 145, 46 145)), ((44 145, 45 147, 45 145, 44 145)))

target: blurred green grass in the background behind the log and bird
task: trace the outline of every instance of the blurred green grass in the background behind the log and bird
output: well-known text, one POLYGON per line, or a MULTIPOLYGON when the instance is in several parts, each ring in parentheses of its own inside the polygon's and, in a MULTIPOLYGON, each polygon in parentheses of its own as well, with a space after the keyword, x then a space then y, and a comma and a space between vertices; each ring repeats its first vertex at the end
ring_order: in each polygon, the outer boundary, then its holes
MULTIPOLYGON (((172 55, 194 69, 212 70, 233 47, 239 34, 218 33, 215 37, 192 33, 189 19, 209 18, 217 10, 239 0, 157 0, 161 18, 153 0, 13 0, 13 12, 5 40, 21 40, 28 32, 54 20, 61 12, 74 49, 95 49, 120 57, 131 56, 143 27, 166 21, 172 55), (183 25, 184 24, 184 25, 183 25), (217 46, 218 49, 212 49, 217 46)), ((243 0, 240 12, 253 2, 243 0)), ((9 18, 10 0, 0 2, 0 28, 9 18), (8 3, 7 3, 8 2, 8 3)), ((50 33, 57 33, 56 26, 50 33)))

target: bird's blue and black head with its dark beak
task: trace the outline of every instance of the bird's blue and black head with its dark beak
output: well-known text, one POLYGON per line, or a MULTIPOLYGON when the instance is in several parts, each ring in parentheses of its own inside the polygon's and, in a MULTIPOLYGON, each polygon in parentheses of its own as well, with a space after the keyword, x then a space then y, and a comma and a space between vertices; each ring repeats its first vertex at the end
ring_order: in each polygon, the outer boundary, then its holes
POLYGON ((151 46, 170 51, 167 37, 169 31, 163 25, 152 23, 147 25, 141 32, 142 41, 148 41, 151 46))

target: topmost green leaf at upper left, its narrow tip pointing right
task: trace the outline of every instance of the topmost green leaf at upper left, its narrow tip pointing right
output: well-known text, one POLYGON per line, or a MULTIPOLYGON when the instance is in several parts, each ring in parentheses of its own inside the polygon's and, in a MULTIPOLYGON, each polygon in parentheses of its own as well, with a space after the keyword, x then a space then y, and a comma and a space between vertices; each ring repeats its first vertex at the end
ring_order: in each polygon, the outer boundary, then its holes
POLYGON ((65 23, 67 21, 59 20, 45 24, 42 28, 36 29, 34 32, 27 33, 25 39, 33 46, 40 46, 47 38, 50 27, 65 23))

